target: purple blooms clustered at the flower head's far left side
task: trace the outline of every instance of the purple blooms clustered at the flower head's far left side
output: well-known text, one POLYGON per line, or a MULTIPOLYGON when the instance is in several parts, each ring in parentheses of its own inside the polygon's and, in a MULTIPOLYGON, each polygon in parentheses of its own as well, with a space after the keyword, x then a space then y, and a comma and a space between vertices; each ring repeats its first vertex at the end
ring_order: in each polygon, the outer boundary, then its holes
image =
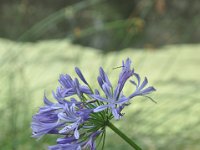
POLYGON ((79 109, 74 103, 63 101, 52 103, 44 97, 44 107, 33 116, 33 137, 39 138, 44 134, 72 134, 79 139, 79 126, 89 119, 90 109, 79 109), (77 109, 77 110, 76 110, 77 109))

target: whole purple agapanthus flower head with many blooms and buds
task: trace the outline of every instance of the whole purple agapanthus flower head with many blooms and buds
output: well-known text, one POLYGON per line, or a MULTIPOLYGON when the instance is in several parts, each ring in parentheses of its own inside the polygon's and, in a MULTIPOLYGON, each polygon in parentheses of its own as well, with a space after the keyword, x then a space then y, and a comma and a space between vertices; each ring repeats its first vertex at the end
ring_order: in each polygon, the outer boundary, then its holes
POLYGON ((57 134, 57 144, 49 146, 49 150, 81 150, 96 149, 98 137, 105 137, 106 123, 115 118, 119 120, 122 110, 136 96, 146 96, 155 91, 154 87, 147 87, 148 80, 141 81, 140 76, 131 68, 131 60, 122 61, 122 71, 116 87, 113 87, 103 68, 99 69, 97 78, 103 94, 93 90, 79 68, 75 71, 84 83, 70 75, 61 75, 60 86, 53 96, 53 103, 44 96, 44 106, 32 119, 32 136, 41 138, 46 134, 57 134), (130 95, 123 94, 127 81, 134 87, 130 95))

